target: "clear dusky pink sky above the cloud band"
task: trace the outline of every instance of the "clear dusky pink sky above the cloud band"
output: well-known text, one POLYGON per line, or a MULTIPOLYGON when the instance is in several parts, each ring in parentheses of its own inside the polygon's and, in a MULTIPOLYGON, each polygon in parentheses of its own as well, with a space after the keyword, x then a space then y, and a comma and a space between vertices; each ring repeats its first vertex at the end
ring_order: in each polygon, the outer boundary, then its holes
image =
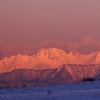
POLYGON ((100 40, 100 0, 0 0, 0 43, 100 40))

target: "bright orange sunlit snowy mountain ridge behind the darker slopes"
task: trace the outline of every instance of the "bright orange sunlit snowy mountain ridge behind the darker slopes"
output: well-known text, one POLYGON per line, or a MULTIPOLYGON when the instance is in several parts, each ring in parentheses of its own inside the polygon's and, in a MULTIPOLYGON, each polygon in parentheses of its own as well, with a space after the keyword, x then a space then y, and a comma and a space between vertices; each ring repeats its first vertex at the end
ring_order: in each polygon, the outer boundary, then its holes
POLYGON ((63 64, 97 65, 100 64, 100 52, 83 55, 78 52, 66 53, 55 47, 39 49, 32 56, 18 54, 3 58, 0 60, 0 73, 14 69, 55 69, 63 64))

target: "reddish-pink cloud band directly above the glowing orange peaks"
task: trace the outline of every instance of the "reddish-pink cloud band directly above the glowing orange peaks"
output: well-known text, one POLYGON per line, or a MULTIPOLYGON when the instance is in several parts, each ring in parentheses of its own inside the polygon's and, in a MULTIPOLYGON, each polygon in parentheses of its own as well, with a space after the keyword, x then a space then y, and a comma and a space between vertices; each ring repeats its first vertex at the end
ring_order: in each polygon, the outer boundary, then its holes
POLYGON ((79 52, 81 54, 88 54, 100 51, 100 40, 87 35, 81 39, 81 42, 72 41, 44 41, 40 45, 26 45, 22 43, 8 43, 0 46, 0 59, 17 54, 33 55, 40 48, 56 47, 69 52, 79 52))

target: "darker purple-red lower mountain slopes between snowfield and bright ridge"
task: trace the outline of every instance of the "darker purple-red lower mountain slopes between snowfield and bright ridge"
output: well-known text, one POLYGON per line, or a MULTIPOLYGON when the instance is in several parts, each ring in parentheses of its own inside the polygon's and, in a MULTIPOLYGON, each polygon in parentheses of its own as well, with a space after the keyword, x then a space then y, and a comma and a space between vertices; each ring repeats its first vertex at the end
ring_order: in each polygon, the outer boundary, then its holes
MULTIPOLYGON (((21 87, 79 82, 100 76, 99 65, 62 65, 55 69, 15 69, 0 74, 0 87, 21 87), (98 72, 99 71, 99 72, 98 72)), ((100 77, 99 77, 100 79, 100 77)))

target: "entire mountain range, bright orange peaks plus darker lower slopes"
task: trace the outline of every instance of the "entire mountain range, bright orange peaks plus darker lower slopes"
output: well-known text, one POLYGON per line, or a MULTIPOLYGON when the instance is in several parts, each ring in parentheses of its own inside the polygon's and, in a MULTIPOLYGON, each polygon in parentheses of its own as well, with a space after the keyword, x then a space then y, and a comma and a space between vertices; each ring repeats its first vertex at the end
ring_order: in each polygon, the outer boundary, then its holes
POLYGON ((100 79, 100 52, 66 53, 57 48, 40 49, 32 56, 15 55, 0 60, 0 87, 26 84, 49 85, 100 79))

